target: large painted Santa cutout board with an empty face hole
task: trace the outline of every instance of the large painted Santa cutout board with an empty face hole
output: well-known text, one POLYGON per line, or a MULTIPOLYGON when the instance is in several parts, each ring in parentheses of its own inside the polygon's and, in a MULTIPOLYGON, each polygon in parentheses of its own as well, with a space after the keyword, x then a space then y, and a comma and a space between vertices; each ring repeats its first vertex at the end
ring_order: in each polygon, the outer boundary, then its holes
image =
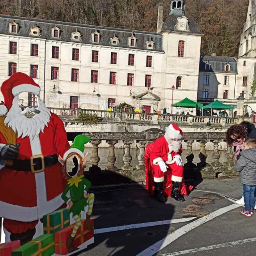
POLYGON ((23 73, 2 83, 0 106, 0 216, 6 242, 30 241, 43 215, 62 206, 66 181, 58 156, 70 148, 63 122, 40 99, 40 86, 23 73), (36 95, 37 108, 21 111, 22 92, 36 95), (33 117, 25 116, 33 113, 33 117))

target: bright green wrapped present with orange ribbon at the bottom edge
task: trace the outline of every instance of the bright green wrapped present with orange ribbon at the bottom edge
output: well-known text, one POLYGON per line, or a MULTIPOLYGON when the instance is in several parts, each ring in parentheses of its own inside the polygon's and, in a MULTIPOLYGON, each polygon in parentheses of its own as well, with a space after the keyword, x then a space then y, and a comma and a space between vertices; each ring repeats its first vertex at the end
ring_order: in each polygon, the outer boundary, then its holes
POLYGON ((12 251, 12 256, 51 256, 55 253, 54 234, 38 236, 36 239, 12 251))

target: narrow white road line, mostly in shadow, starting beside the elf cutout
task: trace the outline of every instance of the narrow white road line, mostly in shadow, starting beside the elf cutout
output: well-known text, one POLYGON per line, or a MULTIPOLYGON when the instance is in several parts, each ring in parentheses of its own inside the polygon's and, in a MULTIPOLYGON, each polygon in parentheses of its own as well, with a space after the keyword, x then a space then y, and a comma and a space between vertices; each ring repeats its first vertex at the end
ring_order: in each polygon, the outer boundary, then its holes
POLYGON ((174 220, 162 220, 162 221, 155 221, 155 222, 144 222, 144 223, 118 226, 118 227, 112 227, 112 228, 99 228, 94 230, 94 234, 102 234, 102 233, 108 233, 113 231, 134 229, 134 228, 146 228, 146 227, 152 227, 152 226, 182 223, 182 222, 188 222, 188 221, 194 220, 196 218, 198 217, 181 218, 181 219, 174 219, 174 220))

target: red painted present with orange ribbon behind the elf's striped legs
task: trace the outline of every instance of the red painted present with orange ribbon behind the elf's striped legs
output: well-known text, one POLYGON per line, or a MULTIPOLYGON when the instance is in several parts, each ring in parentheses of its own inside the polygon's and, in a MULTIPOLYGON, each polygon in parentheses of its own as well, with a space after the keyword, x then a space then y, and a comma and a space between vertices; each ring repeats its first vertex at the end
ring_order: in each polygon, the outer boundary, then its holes
MULTIPOLYGON (((93 227, 93 220, 90 220, 90 224, 93 227)), ((68 254, 68 248, 66 247, 66 242, 68 240, 68 237, 71 235, 73 228, 75 224, 70 225, 66 228, 63 228, 62 230, 56 232, 54 234, 55 237, 55 253, 59 255, 66 255, 68 254)), ((76 238, 74 240, 74 246, 79 247, 84 242, 88 241, 89 239, 93 238, 94 231, 87 230, 86 226, 84 224, 84 220, 82 221, 81 226, 78 228, 76 232, 76 238)))

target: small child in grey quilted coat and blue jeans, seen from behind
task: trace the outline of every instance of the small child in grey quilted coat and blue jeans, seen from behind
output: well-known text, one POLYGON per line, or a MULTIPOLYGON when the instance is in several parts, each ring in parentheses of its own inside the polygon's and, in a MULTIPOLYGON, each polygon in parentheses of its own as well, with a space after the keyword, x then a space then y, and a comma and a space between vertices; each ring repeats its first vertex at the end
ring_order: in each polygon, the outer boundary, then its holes
POLYGON ((251 217, 255 206, 254 192, 256 189, 256 140, 248 139, 244 142, 244 150, 234 167, 240 172, 240 182, 243 184, 244 209, 240 212, 251 217))

